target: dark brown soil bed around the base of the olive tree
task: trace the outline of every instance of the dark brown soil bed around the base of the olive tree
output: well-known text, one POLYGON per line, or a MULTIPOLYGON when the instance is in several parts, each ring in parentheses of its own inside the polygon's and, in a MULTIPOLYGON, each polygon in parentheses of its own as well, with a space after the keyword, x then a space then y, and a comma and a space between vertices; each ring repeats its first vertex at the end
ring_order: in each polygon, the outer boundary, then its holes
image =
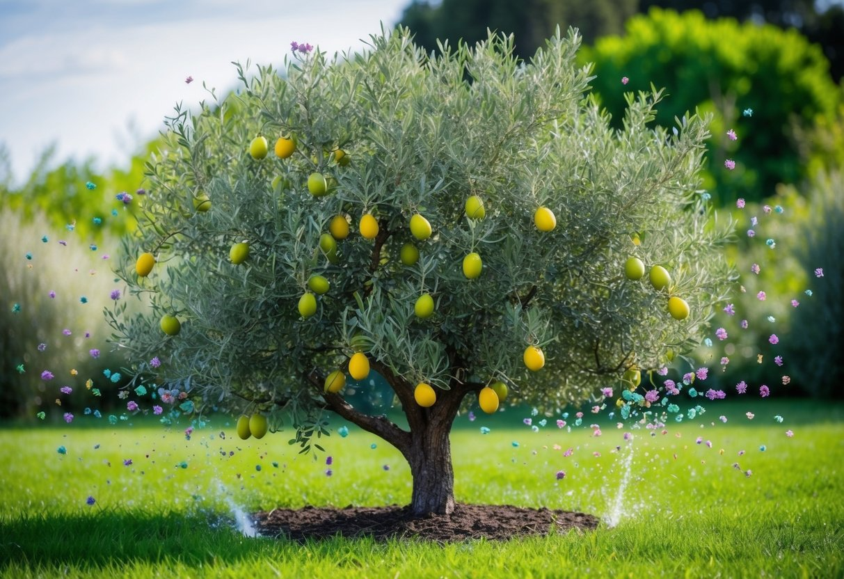
POLYGON ((590 531, 598 518, 582 512, 526 509, 518 506, 457 505, 451 515, 413 517, 404 506, 347 506, 343 509, 275 509, 254 517, 257 532, 264 537, 295 541, 372 537, 420 538, 437 542, 468 538, 506 540, 529 535, 567 533, 571 529, 590 531))

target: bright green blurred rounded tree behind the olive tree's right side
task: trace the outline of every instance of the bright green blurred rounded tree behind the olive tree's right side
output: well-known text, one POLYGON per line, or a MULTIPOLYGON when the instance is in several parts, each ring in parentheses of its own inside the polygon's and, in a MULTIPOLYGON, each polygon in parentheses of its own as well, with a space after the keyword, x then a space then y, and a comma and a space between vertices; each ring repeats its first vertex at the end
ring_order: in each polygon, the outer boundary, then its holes
POLYGON ((673 98, 658 112, 659 123, 692 105, 713 113, 715 138, 708 145, 704 186, 719 203, 766 198, 778 183, 806 177, 796 134, 818 117, 833 116, 841 95, 820 48, 796 30, 710 21, 696 11, 653 8, 630 19, 624 36, 604 37, 580 58, 594 62, 598 76, 592 85, 618 127, 625 76, 629 89, 669 87, 673 98), (744 116, 748 109, 752 116, 744 116), (737 142, 726 137, 730 128, 737 142), (736 161, 736 170, 722 169, 728 158, 736 161))

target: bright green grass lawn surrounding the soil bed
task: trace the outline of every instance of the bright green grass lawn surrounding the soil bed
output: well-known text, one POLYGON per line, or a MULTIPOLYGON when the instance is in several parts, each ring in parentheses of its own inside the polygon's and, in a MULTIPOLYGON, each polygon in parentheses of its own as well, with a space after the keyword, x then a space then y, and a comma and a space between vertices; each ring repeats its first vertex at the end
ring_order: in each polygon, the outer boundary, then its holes
POLYGON ((329 467, 326 455, 297 456, 289 433, 243 442, 222 438, 221 430, 233 433, 222 423, 190 441, 184 425, 9 426, 0 430, 0 575, 844 575, 841 405, 712 403, 705 420, 671 424, 656 436, 606 419, 600 437, 588 428, 559 430, 553 420, 533 432, 523 417, 509 409, 495 419, 458 419, 457 500, 588 511, 603 518, 596 532, 445 547, 246 538, 233 523, 237 508, 405 503, 408 467, 356 429, 327 441, 329 467), (744 416, 751 408, 753 420, 744 416), (560 469, 566 476, 558 481, 560 469), (89 495, 94 506, 86 505, 89 495))

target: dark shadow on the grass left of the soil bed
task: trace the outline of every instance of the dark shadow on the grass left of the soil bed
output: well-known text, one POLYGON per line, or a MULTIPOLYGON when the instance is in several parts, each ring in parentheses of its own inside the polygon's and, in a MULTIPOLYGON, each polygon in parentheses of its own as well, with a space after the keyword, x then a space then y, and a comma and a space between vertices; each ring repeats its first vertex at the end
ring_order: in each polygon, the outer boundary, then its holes
MULTIPOLYGON (((254 558, 272 541, 247 540, 233 520, 217 513, 95 510, 79 514, 33 512, 0 518, 0 575, 9 564, 105 567, 178 560, 199 565, 212 560, 254 558)), ((277 542, 276 542, 277 544, 277 542)))

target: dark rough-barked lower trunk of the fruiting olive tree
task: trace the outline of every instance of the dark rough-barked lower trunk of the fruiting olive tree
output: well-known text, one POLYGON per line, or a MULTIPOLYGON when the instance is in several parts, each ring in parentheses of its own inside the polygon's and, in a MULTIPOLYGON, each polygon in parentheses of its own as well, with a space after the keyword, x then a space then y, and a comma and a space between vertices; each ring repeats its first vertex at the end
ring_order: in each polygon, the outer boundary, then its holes
POLYGON ((454 511, 450 430, 451 421, 432 421, 412 434, 407 459, 414 481, 410 508, 416 516, 449 515, 454 511))

